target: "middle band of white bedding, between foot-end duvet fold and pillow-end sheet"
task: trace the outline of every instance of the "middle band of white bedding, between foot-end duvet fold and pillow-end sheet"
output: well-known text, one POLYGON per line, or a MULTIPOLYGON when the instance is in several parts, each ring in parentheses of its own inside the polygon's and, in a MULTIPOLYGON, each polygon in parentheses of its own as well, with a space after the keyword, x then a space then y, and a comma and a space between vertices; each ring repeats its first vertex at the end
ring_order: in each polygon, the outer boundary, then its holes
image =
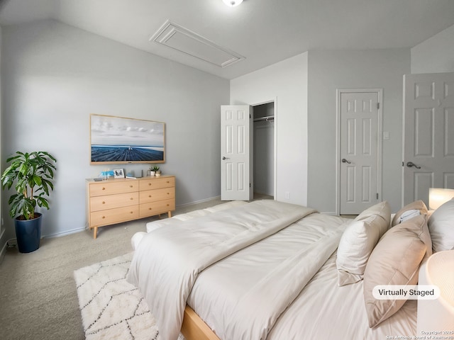
POLYGON ((339 221, 309 215, 206 268, 188 305, 220 339, 267 339, 277 318, 336 250, 344 229, 339 221))

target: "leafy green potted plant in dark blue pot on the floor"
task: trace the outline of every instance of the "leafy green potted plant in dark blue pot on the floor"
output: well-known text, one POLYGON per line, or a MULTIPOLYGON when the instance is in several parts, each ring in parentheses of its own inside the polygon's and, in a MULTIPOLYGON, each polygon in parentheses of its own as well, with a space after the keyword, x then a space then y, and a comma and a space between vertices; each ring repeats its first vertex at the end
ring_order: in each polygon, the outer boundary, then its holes
POLYGON ((54 186, 55 162, 48 152, 16 152, 6 159, 11 164, 1 175, 1 187, 10 189, 14 184, 16 193, 8 200, 9 215, 14 218, 18 249, 30 253, 40 246, 41 218, 35 208, 49 209, 48 196, 54 186))

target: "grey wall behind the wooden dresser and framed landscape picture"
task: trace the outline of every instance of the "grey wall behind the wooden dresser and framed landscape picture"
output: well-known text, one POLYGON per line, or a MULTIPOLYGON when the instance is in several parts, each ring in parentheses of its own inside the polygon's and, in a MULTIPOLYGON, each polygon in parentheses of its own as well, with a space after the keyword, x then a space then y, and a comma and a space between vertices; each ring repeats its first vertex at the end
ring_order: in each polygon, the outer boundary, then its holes
MULTIPOLYGON (((177 178, 177 205, 220 195, 219 112, 228 80, 57 21, 3 28, 1 52, 2 169, 16 150, 57 158, 43 236, 85 227, 84 179, 104 168, 89 165, 90 113, 165 122, 161 169, 177 178)), ((8 216, 9 193, 2 197, 8 216)), ((13 221, 5 222, 14 237, 13 221)))

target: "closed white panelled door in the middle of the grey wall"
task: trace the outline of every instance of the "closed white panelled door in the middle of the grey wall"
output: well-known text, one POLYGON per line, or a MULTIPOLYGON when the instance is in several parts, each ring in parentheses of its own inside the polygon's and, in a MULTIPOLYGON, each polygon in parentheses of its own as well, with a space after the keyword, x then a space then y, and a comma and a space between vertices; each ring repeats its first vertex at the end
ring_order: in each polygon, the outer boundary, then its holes
POLYGON ((339 212, 356 215, 381 199, 380 90, 338 90, 339 212))

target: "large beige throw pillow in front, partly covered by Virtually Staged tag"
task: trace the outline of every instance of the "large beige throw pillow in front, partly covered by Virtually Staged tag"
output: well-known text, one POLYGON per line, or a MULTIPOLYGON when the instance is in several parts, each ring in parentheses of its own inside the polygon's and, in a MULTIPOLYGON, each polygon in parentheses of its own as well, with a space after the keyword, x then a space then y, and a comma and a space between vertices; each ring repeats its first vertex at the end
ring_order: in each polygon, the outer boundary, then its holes
POLYGON ((364 300, 369 327, 396 313, 406 300, 376 300, 376 285, 416 285, 419 266, 431 254, 426 215, 413 217, 389 229, 370 255, 364 273, 364 300))

